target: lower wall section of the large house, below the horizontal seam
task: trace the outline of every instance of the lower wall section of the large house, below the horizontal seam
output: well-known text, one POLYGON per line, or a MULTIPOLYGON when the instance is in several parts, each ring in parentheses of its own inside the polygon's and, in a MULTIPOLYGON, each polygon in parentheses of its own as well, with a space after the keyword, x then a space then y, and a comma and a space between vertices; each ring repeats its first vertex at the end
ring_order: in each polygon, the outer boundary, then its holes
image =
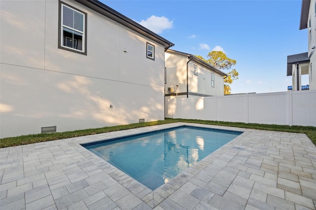
POLYGON ((0 138, 163 120, 163 88, 1 64, 0 138), (27 72, 27 73, 25 73, 27 72), (110 108, 113 105, 113 108, 110 108))

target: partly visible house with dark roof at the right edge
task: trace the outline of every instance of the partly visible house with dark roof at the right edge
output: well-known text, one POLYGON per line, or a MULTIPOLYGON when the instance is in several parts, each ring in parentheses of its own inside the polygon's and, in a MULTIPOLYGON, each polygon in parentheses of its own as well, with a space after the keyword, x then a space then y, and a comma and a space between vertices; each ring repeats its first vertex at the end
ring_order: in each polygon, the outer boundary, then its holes
POLYGON ((292 76, 293 91, 316 90, 316 0, 302 0, 300 30, 308 29, 308 52, 287 56, 287 76, 292 76), (301 76, 309 75, 309 84, 301 76))

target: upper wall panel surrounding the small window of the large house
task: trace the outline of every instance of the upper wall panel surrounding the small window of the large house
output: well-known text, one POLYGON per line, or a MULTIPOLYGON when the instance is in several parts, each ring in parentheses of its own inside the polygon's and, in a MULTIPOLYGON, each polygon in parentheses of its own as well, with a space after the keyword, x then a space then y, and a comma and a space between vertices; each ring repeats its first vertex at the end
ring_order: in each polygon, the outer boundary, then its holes
POLYGON ((155 60, 148 59, 146 42, 144 37, 120 26, 119 80, 164 88, 164 47, 149 41, 155 46, 155 60), (126 52, 123 52, 124 48, 126 52))

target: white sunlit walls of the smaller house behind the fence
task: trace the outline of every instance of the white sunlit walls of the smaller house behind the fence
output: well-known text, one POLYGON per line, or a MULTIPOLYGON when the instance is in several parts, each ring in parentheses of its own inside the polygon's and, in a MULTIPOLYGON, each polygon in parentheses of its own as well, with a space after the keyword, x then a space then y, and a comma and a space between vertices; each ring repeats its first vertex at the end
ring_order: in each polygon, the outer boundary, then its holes
MULTIPOLYGON (((168 51, 165 53, 165 67, 167 68, 165 94, 168 94, 168 87, 175 87, 176 85, 179 85, 176 93, 187 92, 188 61, 188 56, 168 51)), ((190 61, 188 67, 189 92, 209 96, 224 95, 224 79, 222 75, 210 71, 209 69, 199 65, 195 61, 190 61), (197 75, 194 74, 194 65, 197 65, 197 75), (215 87, 211 87, 211 73, 215 74, 215 87)), ((182 97, 183 96, 178 96, 177 98, 182 97)), ((193 96, 189 95, 189 97, 193 96)))

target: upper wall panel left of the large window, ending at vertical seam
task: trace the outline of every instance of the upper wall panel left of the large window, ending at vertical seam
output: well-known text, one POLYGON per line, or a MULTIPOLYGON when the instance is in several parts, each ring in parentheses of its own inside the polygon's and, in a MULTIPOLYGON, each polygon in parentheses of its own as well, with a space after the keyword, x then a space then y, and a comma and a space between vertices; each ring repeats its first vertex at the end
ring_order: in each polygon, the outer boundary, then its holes
POLYGON ((0 0, 0 63, 43 68, 44 29, 45 1, 0 0))

